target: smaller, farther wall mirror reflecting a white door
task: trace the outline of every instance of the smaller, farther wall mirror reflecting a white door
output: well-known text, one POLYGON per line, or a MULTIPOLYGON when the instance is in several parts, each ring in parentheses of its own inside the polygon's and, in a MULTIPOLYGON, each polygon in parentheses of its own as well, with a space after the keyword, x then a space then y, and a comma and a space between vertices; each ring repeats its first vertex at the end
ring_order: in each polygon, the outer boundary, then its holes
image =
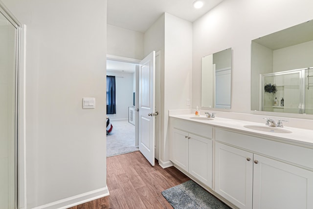
POLYGON ((230 109, 231 48, 202 57, 201 108, 230 109))

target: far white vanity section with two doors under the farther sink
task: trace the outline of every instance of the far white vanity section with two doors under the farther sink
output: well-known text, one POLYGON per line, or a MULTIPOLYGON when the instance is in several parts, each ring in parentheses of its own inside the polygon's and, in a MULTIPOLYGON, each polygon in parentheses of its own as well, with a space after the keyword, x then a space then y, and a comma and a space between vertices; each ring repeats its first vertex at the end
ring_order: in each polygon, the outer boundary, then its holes
POLYGON ((212 188, 212 127, 172 118, 170 160, 212 188))

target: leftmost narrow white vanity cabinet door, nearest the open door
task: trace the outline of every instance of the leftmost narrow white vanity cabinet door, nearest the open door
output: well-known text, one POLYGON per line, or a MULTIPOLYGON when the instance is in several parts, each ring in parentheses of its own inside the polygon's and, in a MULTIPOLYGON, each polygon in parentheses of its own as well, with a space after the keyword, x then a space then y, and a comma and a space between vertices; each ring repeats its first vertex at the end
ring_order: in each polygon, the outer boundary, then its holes
POLYGON ((173 129, 172 161, 188 172, 188 133, 173 129))

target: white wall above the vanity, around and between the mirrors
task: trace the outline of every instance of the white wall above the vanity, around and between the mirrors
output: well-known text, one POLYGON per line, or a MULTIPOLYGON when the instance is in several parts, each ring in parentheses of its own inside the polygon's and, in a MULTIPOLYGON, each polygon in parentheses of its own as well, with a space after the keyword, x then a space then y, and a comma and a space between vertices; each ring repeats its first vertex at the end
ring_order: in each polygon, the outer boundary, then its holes
POLYGON ((201 101, 201 57, 232 47, 232 112, 250 113, 251 40, 313 19, 313 1, 224 0, 193 23, 192 105, 201 101))

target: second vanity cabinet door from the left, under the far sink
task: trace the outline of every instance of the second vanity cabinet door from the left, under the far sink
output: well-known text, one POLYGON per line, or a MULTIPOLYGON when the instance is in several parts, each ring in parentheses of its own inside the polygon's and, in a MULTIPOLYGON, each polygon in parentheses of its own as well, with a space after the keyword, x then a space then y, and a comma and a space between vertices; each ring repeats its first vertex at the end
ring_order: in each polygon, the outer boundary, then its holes
POLYGON ((212 188, 212 140, 189 134, 189 173, 212 188))

